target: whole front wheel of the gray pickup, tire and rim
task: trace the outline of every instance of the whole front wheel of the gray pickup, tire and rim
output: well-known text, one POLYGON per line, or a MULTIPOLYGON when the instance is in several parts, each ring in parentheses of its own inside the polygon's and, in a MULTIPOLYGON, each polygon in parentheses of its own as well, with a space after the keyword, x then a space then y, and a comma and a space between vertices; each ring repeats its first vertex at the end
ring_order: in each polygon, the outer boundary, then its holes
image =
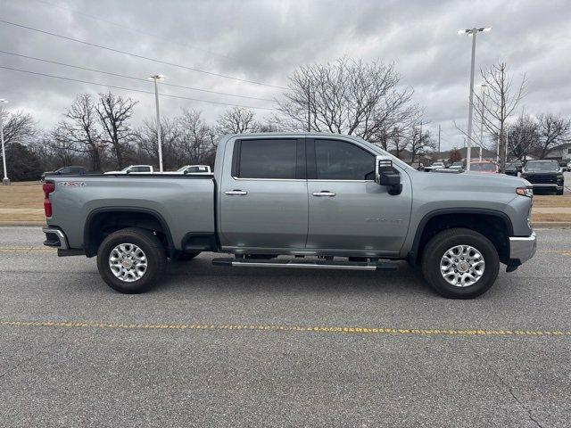
POLYGON ((493 244, 470 229, 445 230, 423 251, 423 276, 436 292, 450 299, 471 299, 487 292, 499 269, 500 258, 493 244))

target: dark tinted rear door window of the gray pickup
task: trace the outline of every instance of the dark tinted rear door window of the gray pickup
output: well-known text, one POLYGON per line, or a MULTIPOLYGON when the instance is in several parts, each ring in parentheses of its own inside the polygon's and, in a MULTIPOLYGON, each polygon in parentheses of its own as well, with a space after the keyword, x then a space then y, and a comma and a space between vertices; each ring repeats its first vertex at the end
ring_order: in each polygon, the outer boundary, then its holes
POLYGON ((296 140, 242 140, 238 177, 295 178, 296 140))

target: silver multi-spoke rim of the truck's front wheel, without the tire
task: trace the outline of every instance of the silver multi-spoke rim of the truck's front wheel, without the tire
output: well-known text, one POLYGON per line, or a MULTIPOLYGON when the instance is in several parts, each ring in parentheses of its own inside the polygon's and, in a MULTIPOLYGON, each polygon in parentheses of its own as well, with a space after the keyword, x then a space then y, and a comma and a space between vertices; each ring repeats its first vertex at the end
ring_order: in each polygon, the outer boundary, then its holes
POLYGON ((470 245, 456 245, 440 259, 440 273, 448 284, 468 287, 484 275, 484 256, 470 245))

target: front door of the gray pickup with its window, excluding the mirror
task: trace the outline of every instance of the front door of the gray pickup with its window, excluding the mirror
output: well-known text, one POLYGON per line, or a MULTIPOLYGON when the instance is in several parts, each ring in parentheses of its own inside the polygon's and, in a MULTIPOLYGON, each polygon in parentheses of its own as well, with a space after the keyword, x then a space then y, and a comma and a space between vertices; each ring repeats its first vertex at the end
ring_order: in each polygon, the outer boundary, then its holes
POLYGON ((341 139, 308 139, 309 233, 306 249, 396 255, 410 222, 410 178, 391 195, 375 182, 375 154, 341 139))

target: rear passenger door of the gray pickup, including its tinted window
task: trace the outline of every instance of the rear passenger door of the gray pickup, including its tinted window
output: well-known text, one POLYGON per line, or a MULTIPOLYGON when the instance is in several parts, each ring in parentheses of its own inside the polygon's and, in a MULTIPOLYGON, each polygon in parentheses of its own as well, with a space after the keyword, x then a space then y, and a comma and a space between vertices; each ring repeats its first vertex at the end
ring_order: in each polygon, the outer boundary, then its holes
POLYGON ((235 140, 226 147, 221 181, 223 248, 304 248, 308 197, 303 138, 235 140))

